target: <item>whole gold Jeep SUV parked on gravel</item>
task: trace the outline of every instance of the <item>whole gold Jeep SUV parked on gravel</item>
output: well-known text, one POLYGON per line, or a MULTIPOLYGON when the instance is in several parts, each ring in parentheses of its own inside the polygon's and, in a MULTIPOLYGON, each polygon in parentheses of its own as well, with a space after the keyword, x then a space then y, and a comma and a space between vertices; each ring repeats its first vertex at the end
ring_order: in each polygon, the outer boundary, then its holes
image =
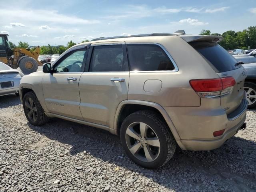
POLYGON ((73 46, 24 76, 20 99, 36 126, 62 118, 120 136, 137 164, 212 150, 244 128, 246 71, 220 36, 144 34, 73 46))

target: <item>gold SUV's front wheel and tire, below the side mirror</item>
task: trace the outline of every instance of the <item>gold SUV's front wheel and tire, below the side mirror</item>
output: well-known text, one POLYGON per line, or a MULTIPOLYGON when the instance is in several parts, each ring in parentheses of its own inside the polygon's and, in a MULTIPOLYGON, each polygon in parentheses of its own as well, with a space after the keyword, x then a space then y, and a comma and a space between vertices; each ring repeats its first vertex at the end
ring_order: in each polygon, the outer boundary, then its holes
POLYGON ((24 95, 23 109, 28 122, 32 125, 40 126, 49 120, 34 92, 27 92, 24 95))

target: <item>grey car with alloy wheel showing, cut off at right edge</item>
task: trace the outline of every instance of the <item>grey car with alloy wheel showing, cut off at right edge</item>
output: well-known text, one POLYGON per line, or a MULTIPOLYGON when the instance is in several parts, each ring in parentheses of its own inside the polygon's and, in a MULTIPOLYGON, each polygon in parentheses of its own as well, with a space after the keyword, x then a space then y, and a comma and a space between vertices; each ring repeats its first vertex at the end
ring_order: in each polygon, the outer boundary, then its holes
POLYGON ((248 108, 256 108, 256 63, 243 64, 246 69, 247 77, 244 82, 244 90, 246 91, 246 100, 248 108))

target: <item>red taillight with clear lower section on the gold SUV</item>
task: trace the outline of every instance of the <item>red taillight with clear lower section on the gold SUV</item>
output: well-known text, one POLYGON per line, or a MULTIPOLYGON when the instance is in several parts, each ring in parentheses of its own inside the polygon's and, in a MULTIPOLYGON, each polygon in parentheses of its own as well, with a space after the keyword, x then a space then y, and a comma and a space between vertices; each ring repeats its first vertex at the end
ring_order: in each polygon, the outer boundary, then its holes
POLYGON ((222 94, 228 94, 229 90, 222 91, 234 86, 236 81, 233 77, 223 77, 216 79, 193 79, 189 83, 200 97, 217 97, 222 94))

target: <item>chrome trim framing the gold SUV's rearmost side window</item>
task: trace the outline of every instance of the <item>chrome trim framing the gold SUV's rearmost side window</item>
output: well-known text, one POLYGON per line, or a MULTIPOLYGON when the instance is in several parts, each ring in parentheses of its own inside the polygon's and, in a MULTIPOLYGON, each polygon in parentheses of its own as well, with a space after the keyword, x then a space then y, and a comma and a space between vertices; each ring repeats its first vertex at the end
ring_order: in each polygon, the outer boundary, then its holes
MULTIPOLYGON (((129 44, 140 44, 140 45, 144 45, 144 44, 151 44, 151 45, 157 45, 160 46, 160 48, 162 48, 162 50, 164 50, 164 52, 166 53, 166 55, 169 57, 169 59, 171 60, 173 66, 174 66, 174 70, 160 70, 160 71, 130 71, 130 73, 159 73, 159 72, 178 72, 179 68, 176 64, 176 62, 174 61, 174 59, 172 58, 172 56, 169 54, 169 52, 166 50, 166 48, 164 46, 162 46, 159 43, 126 43, 127 45, 129 44)), ((128 56, 129 57, 129 56, 128 56)))

